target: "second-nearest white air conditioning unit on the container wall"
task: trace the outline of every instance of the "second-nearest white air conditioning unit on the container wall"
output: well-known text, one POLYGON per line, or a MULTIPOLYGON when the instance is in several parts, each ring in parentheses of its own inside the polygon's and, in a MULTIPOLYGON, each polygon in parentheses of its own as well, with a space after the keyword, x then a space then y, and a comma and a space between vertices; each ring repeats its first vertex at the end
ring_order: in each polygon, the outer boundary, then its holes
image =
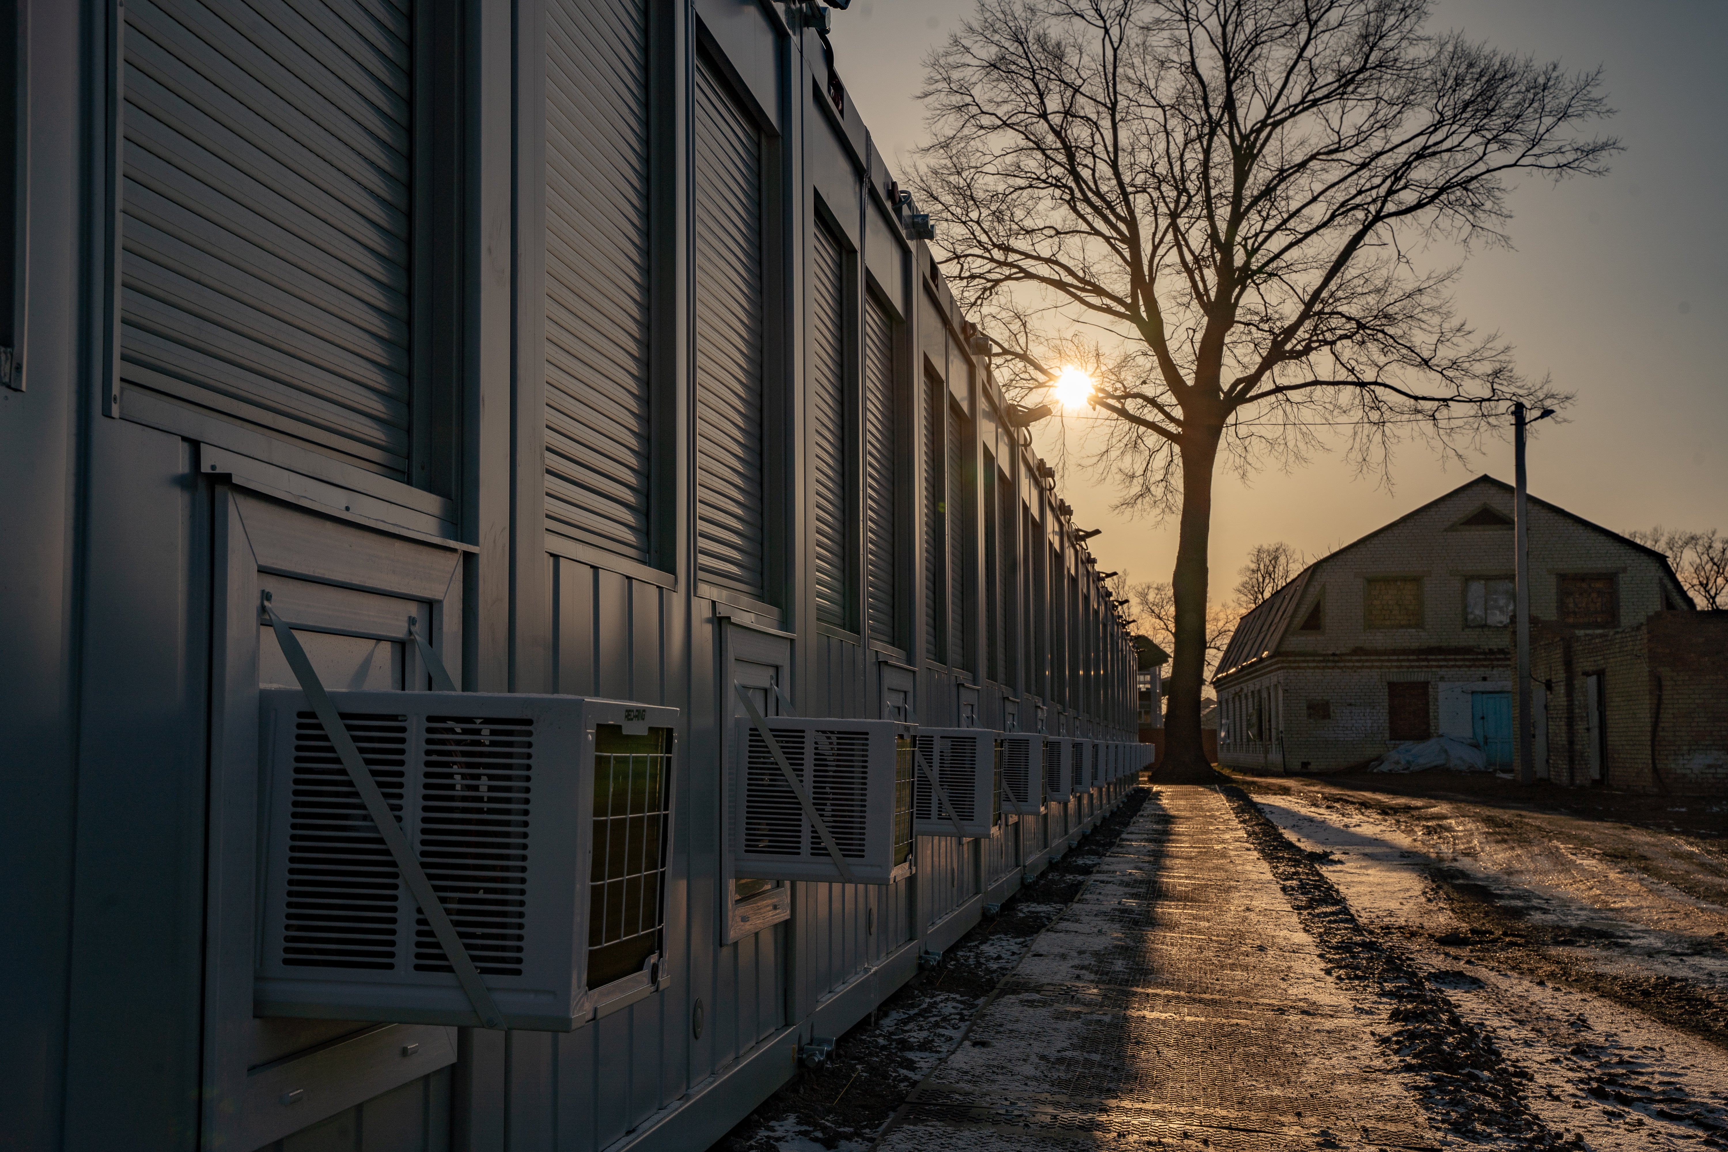
POLYGON ((911 876, 914 729, 897 720, 793 717, 769 717, 762 727, 772 746, 760 727, 738 722, 736 876, 831 884, 911 876))

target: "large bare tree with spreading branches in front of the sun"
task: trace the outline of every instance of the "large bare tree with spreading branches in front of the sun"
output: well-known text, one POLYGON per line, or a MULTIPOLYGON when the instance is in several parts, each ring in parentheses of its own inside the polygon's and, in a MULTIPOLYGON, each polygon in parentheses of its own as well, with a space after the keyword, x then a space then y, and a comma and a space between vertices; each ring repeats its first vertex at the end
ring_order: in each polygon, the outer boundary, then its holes
POLYGON ((1220 454, 1293 466, 1343 427, 1457 453, 1512 399, 1557 408, 1426 271, 1505 242, 1519 171, 1600 174, 1598 73, 1422 29, 1427 0, 980 0, 926 60, 912 181, 1023 394, 1092 371, 1125 504, 1180 510, 1170 755, 1204 765, 1206 546, 1220 454))

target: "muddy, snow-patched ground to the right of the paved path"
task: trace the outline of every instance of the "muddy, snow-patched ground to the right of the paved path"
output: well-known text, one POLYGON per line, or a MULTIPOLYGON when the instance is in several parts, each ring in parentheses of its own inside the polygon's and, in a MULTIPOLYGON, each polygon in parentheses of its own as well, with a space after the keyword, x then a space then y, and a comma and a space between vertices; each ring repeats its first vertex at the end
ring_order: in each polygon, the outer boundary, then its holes
POLYGON ((1232 781, 1493 1048, 1464 1074, 1515 1092, 1474 1140, 1455 1130, 1467 1143, 1517 1147, 1524 1124, 1728 1149, 1728 803, 1448 772, 1232 781))

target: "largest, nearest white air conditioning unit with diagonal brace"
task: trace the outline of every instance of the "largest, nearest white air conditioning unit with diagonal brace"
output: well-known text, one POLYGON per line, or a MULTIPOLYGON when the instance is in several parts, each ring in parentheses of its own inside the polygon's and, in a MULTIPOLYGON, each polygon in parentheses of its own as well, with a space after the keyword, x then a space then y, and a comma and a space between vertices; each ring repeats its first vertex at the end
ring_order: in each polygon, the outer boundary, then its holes
MULTIPOLYGON (((505 1028, 570 1031, 660 983, 676 708, 330 699, 505 1028)), ((477 1024, 306 693, 259 701, 257 1016, 477 1024)))

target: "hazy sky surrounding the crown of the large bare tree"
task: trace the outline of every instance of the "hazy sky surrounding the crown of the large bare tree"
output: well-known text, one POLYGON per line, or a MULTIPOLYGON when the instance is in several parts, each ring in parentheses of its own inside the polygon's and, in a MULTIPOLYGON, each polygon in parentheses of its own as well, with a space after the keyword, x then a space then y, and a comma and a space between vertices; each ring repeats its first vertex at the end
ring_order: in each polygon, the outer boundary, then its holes
MULTIPOLYGON (((971 10, 971 0, 854 0, 835 12, 835 62, 890 168, 923 140, 924 54, 971 10)), ((1541 425, 1531 444, 1531 492, 1616 530, 1728 530, 1728 5, 1450 0, 1431 28, 1574 69, 1600 64, 1619 111, 1604 126, 1626 145, 1614 171, 1528 181, 1510 202, 1515 249, 1477 252, 1458 287, 1460 314, 1515 344, 1526 375, 1552 373, 1578 394, 1569 423, 1541 425)), ((1054 458, 1056 421, 1040 434, 1054 458)), ((1220 475, 1213 596, 1229 594, 1253 544, 1350 542, 1481 472, 1512 480, 1510 439, 1469 472, 1410 444, 1391 491, 1355 477, 1339 453, 1248 485, 1220 475)), ((1106 529, 1092 541, 1104 570, 1170 579, 1173 523, 1111 513, 1109 485, 1077 468, 1061 492, 1077 523, 1106 529)))

